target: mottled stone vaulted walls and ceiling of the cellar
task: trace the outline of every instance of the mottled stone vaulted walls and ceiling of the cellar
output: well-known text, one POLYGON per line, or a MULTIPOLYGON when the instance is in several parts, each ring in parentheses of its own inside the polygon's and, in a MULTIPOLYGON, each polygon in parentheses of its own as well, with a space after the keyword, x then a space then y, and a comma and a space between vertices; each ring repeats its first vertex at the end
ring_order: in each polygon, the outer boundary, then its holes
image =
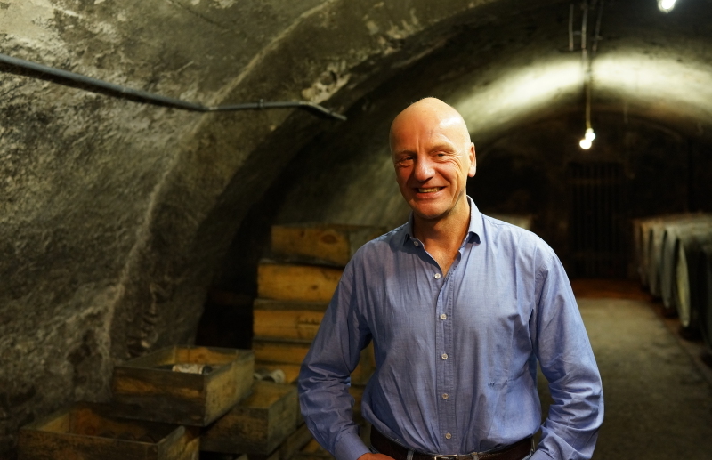
POLYGON ((0 64, 3 458, 20 426, 106 399, 117 363, 215 331, 249 346, 248 313, 206 314, 215 293, 249 310, 272 225, 405 222, 388 131, 423 97, 465 118, 481 212, 529 216, 572 279, 634 278, 632 219, 712 212, 709 0, 4 0, 0 44, 206 106, 347 117, 193 112, 0 64))

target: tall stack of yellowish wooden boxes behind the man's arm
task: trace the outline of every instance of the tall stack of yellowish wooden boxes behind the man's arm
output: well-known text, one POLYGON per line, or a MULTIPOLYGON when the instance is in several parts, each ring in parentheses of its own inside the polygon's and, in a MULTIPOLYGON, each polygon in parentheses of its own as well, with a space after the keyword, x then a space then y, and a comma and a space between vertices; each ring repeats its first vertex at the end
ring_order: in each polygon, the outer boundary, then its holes
MULTIPOLYGON (((255 367, 280 369, 288 383, 295 383, 344 266, 360 246, 383 233, 383 228, 357 225, 272 227, 271 256, 260 262, 257 275, 255 367)), ((350 389, 354 416, 360 422, 361 395, 374 368, 373 347, 369 346, 361 352, 350 389)), ((311 446, 300 455, 325 455, 314 448, 315 443, 311 446)))

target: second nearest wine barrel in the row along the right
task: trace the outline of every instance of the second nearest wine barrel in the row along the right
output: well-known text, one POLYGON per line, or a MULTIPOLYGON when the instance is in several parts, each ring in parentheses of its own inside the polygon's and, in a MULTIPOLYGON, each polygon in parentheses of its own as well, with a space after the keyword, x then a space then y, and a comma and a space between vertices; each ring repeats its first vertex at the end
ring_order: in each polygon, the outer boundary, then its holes
POLYGON ((712 244, 712 223, 677 229, 676 270, 673 300, 680 326, 686 332, 700 328, 700 311, 706 295, 702 246, 712 244))

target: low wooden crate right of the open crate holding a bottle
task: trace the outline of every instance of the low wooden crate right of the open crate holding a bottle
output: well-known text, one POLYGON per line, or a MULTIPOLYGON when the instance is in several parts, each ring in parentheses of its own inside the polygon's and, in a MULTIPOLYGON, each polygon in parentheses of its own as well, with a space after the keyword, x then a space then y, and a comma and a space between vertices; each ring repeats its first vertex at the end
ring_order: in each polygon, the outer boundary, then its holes
POLYGON ((269 455, 296 430, 298 412, 295 386, 255 382, 250 396, 206 429, 200 449, 269 455))

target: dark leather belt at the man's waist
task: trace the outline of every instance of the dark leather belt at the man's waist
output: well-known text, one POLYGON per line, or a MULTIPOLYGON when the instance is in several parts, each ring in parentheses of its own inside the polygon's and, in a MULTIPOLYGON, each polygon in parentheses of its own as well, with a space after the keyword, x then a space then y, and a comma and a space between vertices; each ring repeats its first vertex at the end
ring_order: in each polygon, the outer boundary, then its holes
MULTIPOLYGON (((404 448, 401 444, 390 440, 373 426, 371 427, 371 445, 380 454, 391 456, 395 460, 409 460, 409 448, 404 448)), ((530 454, 533 447, 534 444, 530 436, 515 442, 511 446, 499 448, 493 452, 473 452, 459 456, 433 456, 432 454, 424 454, 414 450, 411 460, 522 460, 522 458, 530 454)))

